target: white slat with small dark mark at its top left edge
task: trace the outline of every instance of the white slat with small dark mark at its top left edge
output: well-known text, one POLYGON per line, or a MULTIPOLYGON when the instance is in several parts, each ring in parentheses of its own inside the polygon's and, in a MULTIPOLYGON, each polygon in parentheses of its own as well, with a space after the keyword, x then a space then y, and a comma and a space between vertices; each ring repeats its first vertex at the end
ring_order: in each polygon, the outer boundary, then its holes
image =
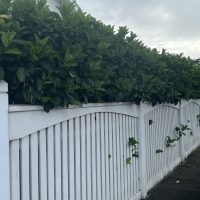
POLYGON ((100 146, 100 118, 96 113, 96 168, 97 168, 97 200, 101 200, 101 146, 100 146))

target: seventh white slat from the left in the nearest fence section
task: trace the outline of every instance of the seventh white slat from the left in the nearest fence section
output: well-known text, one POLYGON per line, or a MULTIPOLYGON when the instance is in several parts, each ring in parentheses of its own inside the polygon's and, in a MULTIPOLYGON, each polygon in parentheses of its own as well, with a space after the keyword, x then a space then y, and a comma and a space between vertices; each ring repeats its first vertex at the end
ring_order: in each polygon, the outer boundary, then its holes
POLYGON ((62 190, 63 200, 68 200, 68 123, 62 123, 62 190))

